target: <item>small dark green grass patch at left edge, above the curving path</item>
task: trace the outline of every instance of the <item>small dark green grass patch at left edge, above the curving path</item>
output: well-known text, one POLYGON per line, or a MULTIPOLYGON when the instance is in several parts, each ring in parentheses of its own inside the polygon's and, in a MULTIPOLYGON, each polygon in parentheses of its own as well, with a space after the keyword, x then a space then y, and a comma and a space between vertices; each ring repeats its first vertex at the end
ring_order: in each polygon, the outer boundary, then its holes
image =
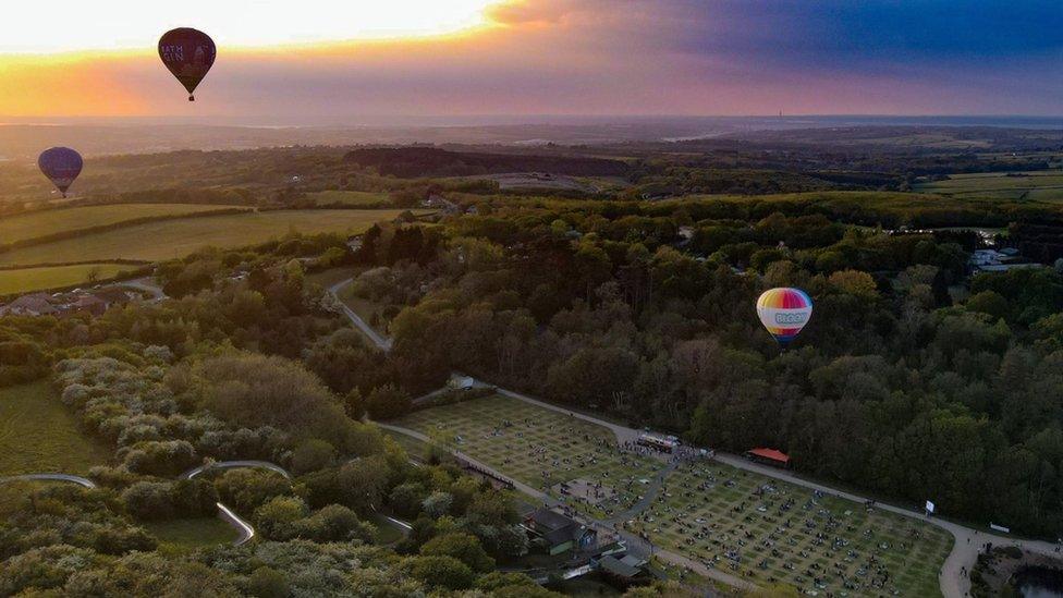
POLYGON ((84 436, 48 382, 0 389, 0 475, 84 474, 111 449, 84 436))

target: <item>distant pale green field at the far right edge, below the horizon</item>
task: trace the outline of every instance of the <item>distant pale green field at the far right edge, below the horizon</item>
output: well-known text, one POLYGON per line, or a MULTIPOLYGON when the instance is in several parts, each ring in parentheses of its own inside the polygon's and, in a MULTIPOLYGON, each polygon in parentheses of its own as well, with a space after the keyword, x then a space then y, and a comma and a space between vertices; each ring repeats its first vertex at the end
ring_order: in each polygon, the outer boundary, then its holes
POLYGON ((946 181, 920 183, 916 190, 964 199, 1063 202, 1063 171, 952 174, 946 181))

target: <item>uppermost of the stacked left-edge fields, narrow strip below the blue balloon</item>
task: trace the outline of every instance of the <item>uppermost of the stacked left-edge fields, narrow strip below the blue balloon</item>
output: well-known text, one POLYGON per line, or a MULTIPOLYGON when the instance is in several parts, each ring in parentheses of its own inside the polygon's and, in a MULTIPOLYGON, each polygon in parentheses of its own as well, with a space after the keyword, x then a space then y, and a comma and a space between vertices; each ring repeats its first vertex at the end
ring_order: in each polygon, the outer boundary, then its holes
POLYGON ((39 236, 117 224, 137 218, 181 216, 217 211, 237 206, 208 206, 195 204, 119 204, 85 206, 44 210, 0 219, 0 244, 14 243, 39 236))

